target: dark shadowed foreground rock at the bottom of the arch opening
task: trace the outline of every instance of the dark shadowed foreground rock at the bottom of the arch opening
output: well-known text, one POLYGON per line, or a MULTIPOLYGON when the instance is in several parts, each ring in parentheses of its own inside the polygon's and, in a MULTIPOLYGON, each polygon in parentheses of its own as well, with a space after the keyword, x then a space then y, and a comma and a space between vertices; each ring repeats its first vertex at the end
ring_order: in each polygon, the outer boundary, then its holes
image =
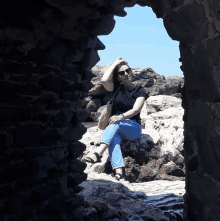
POLYGON ((132 191, 124 182, 90 180, 80 186, 84 190, 77 195, 84 197, 85 220, 184 220, 183 197, 150 196, 148 191, 132 191))

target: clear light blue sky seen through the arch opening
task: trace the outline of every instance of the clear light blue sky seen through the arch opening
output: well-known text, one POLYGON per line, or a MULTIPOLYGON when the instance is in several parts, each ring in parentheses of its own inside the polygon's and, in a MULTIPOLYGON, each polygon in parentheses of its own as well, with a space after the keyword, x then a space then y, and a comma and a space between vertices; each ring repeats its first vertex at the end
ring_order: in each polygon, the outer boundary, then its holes
POLYGON ((150 7, 135 5, 125 8, 126 17, 115 16, 114 30, 99 36, 105 50, 98 51, 101 60, 97 65, 109 65, 122 57, 132 68, 152 68, 156 73, 183 76, 179 62, 179 42, 173 41, 150 7))

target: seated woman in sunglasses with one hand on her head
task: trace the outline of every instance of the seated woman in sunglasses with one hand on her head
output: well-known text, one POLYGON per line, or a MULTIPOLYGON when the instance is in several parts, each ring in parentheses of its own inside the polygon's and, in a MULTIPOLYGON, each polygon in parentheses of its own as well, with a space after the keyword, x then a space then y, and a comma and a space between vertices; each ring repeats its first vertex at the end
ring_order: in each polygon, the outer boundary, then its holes
POLYGON ((105 129, 99 150, 84 160, 96 163, 100 161, 103 152, 108 148, 112 168, 115 169, 115 178, 123 177, 123 157, 120 143, 122 139, 135 140, 141 135, 140 111, 147 98, 144 88, 132 83, 133 73, 127 62, 122 58, 109 67, 102 77, 102 84, 108 91, 115 92, 121 86, 115 96, 112 117, 105 129))

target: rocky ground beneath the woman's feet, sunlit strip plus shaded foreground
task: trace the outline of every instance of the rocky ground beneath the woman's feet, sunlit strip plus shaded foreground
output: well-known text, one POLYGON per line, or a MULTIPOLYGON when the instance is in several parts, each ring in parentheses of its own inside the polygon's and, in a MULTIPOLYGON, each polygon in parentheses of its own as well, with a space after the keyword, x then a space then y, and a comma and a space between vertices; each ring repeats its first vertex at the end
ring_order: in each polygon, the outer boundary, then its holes
POLYGON ((183 221, 184 181, 129 183, 98 174, 84 188, 85 220, 183 221))

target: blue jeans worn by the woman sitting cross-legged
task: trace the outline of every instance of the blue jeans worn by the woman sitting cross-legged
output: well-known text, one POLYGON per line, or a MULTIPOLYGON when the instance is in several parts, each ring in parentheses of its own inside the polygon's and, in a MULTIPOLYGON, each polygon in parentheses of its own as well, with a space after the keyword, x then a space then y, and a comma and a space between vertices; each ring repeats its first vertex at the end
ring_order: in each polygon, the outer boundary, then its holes
POLYGON ((109 157, 113 169, 124 167, 120 143, 122 139, 136 140, 141 136, 141 125, 134 120, 123 120, 110 124, 104 131, 101 143, 108 144, 109 157))

